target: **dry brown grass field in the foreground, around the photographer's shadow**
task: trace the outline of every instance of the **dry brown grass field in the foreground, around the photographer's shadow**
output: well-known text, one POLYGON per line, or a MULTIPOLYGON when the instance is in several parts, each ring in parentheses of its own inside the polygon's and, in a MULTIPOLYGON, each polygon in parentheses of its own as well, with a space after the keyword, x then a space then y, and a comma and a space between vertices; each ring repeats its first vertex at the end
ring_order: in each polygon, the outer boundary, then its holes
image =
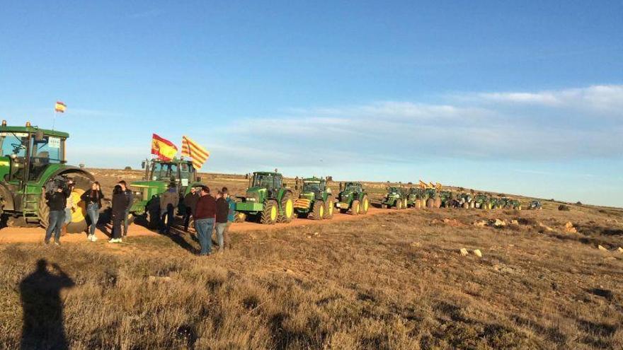
POLYGON ((62 292, 72 349, 620 349, 623 255, 595 249, 623 245, 616 220, 593 209, 388 211, 240 233, 210 258, 183 249, 198 246, 188 236, 5 245, 0 347, 21 342, 18 286, 43 258, 75 284, 62 292), (522 225, 471 226, 494 216, 522 225), (432 223, 445 217, 456 221, 432 223), (566 221, 580 232, 562 233, 566 221))

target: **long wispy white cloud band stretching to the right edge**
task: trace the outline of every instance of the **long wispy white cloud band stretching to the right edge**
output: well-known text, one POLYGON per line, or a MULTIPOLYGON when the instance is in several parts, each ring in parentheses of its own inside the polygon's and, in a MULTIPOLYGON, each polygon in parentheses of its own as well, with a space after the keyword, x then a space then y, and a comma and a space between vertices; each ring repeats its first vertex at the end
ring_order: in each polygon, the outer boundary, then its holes
POLYGON ((288 109, 279 117, 241 119, 222 131, 240 153, 254 155, 245 161, 280 166, 315 158, 326 165, 607 158, 623 153, 622 103, 623 86, 469 93, 440 105, 381 101, 288 109))

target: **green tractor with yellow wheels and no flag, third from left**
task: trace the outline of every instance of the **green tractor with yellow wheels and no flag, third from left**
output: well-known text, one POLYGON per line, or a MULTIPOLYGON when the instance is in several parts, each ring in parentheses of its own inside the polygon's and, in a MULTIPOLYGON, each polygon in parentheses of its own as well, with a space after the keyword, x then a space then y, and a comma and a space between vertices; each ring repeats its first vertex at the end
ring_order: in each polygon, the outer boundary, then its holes
POLYGON ((247 216, 260 223, 289 223, 294 217, 294 195, 283 183, 280 173, 256 172, 249 177, 244 197, 236 202, 236 221, 246 221, 247 216))

